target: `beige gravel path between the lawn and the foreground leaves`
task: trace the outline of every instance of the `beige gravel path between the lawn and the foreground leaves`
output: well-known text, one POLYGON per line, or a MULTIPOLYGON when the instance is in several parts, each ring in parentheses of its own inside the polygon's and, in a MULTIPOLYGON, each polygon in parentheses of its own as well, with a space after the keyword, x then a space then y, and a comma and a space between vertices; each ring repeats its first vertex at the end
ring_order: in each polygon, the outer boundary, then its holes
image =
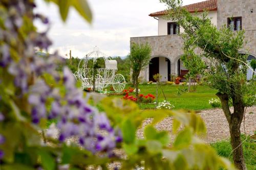
MULTIPOLYGON (((233 111, 232 108, 230 109, 233 111)), ((228 139, 229 128, 226 117, 222 111, 222 109, 210 109, 203 110, 199 112, 200 116, 203 118, 206 128, 207 135, 202 137, 203 140, 207 143, 212 143, 222 139, 228 139)), ((143 124, 143 128, 138 130, 137 136, 139 138, 143 138, 143 129, 144 127, 152 122, 152 118, 148 118, 145 120, 143 124)), ((162 122, 156 125, 158 130, 167 130, 168 132, 172 132, 172 117, 167 117, 162 122)), ((253 134, 256 131, 256 107, 249 107, 246 109, 245 113, 245 129, 246 134, 253 134)), ((241 125, 241 133, 244 133, 244 124, 241 125)), ((173 140, 174 136, 170 135, 170 138, 173 140)))

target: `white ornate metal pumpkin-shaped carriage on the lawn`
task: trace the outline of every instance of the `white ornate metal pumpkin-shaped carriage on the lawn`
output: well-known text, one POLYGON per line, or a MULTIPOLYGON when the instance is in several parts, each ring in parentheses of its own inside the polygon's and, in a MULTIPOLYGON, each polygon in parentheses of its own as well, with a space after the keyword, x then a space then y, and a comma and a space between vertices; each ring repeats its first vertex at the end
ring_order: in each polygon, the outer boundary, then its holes
POLYGON ((111 60, 110 57, 101 53, 98 47, 95 47, 93 52, 80 60, 74 75, 77 80, 81 81, 83 89, 93 89, 93 79, 95 79, 95 90, 102 91, 104 88, 112 85, 116 92, 121 92, 125 87, 125 79, 121 74, 115 75, 116 71, 117 61, 111 60), (93 65, 99 58, 104 59, 105 68, 93 69, 93 65), (91 62, 89 62, 90 60, 91 62))

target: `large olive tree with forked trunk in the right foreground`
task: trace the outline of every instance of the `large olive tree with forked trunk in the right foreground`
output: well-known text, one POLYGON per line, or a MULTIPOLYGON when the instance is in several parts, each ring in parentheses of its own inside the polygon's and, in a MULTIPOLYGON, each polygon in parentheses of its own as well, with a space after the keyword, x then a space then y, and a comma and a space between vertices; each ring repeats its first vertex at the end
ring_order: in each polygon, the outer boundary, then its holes
MULTIPOLYGON (((180 0, 160 0, 167 5, 168 19, 175 20, 184 28, 184 53, 187 57, 205 57, 208 85, 217 89, 222 109, 229 125, 233 161, 238 169, 246 169, 241 144, 240 127, 245 111, 244 96, 247 93, 247 55, 238 51, 244 44, 244 31, 233 32, 227 26, 217 29, 212 25, 207 12, 201 16, 189 13, 180 0), (201 53, 196 54, 195 49, 201 53), (231 112, 228 101, 232 101, 231 112)), ((251 81, 250 83, 253 83, 251 81)), ((255 93, 254 93, 255 94, 255 93)))

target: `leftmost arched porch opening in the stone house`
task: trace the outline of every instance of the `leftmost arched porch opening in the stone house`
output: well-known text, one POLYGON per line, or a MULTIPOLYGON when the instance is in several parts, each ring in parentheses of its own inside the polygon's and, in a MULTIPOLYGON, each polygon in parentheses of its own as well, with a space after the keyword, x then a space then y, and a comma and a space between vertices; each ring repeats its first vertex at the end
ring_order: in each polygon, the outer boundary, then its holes
POLYGON ((166 57, 154 57, 149 65, 149 81, 156 82, 153 78, 154 75, 160 74, 162 77, 161 82, 170 81, 170 60, 166 57))

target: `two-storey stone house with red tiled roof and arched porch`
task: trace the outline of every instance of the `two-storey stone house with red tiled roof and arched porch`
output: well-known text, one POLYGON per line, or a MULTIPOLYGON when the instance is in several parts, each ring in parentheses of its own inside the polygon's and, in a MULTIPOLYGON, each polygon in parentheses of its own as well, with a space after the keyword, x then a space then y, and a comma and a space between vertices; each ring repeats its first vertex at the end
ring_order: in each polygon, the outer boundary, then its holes
MULTIPOLYGON (((240 53, 249 51, 248 62, 256 57, 256 2, 255 0, 209 0, 184 6, 190 13, 200 15, 205 9, 212 23, 221 28, 231 26, 233 31, 245 30, 245 41, 240 53), (232 18, 232 19, 231 19, 232 18)), ((130 43, 148 43, 152 47, 151 64, 141 71, 142 81, 153 81, 153 75, 162 75, 162 82, 170 81, 170 75, 183 76, 187 73, 180 57, 183 55, 183 40, 179 33, 183 32, 176 22, 166 20, 166 11, 151 13, 158 20, 158 35, 149 37, 132 37, 130 43)), ((252 76, 248 69, 247 79, 252 76)))

